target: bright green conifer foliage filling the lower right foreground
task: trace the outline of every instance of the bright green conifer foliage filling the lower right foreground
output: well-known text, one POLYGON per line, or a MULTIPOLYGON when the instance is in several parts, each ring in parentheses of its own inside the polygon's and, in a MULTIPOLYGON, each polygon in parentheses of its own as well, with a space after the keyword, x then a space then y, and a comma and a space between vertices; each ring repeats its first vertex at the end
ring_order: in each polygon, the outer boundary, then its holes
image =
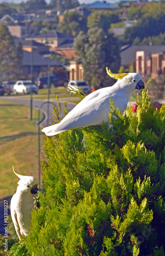
POLYGON ((123 115, 111 100, 113 129, 46 137, 23 255, 164 255, 165 105, 157 111, 146 88, 137 104, 123 115))

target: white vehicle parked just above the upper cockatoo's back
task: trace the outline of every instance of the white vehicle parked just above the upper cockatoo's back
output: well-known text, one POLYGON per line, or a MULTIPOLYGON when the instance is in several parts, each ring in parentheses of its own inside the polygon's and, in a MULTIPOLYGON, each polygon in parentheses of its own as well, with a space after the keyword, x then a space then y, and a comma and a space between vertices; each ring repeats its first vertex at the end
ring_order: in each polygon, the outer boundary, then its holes
MULTIPOLYGON (((85 94, 91 93, 91 87, 87 84, 86 81, 70 80, 68 82, 68 87, 73 88, 74 90, 78 91, 76 89, 76 86, 78 86, 78 88, 80 88, 81 91, 85 94)), ((69 89, 68 89, 68 91, 70 94, 72 93, 72 91, 70 91, 69 89)), ((73 93, 76 94, 76 92, 73 92, 73 93)))

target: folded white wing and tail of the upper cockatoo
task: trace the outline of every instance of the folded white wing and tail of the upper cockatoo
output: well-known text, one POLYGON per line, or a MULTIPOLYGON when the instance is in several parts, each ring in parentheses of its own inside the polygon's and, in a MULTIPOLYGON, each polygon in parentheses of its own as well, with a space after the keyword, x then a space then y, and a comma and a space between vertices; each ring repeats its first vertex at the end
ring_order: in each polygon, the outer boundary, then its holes
POLYGON ((109 89, 111 88, 89 94, 60 123, 45 127, 42 132, 52 136, 78 127, 101 124, 102 121, 108 122, 109 97, 112 90, 109 89))

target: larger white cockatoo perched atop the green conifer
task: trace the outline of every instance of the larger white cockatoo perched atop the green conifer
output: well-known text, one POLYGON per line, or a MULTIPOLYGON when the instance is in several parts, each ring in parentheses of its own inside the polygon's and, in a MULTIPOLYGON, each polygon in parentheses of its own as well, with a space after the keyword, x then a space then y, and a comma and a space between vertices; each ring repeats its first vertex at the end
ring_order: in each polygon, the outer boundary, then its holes
POLYGON ((132 91, 144 88, 142 76, 137 73, 113 74, 107 68, 106 72, 110 77, 117 79, 114 86, 92 92, 82 99, 60 123, 45 127, 42 132, 47 136, 53 136, 70 129, 98 125, 103 121, 109 123, 109 99, 111 98, 114 98, 115 108, 124 112, 132 91))

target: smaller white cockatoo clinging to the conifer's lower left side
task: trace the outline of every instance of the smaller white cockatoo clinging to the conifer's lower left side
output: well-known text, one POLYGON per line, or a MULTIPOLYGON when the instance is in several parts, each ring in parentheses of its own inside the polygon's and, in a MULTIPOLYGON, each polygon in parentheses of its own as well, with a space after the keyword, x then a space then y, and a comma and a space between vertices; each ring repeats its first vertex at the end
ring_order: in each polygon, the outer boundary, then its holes
POLYGON ((32 176, 19 175, 13 172, 20 179, 16 193, 13 195, 10 204, 11 218, 19 240, 28 236, 31 228, 32 209, 38 191, 38 180, 32 176))

